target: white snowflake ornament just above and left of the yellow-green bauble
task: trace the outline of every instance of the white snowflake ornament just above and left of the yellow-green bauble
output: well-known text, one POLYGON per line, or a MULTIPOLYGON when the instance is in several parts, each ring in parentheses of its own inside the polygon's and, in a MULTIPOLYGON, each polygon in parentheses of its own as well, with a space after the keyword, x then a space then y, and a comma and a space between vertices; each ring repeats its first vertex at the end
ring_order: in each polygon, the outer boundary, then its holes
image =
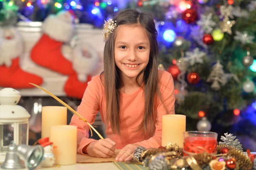
POLYGON ((209 13, 208 15, 202 14, 200 20, 197 21, 197 25, 200 26, 200 29, 205 33, 211 33, 213 27, 216 25, 216 23, 212 20, 212 13, 209 13))

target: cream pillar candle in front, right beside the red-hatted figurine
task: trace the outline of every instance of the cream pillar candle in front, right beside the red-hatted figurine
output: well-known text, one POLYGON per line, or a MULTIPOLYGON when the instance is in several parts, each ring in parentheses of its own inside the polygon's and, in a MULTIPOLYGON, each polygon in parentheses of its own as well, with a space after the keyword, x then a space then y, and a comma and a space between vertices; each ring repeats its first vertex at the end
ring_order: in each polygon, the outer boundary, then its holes
POLYGON ((50 141, 56 148, 53 150, 55 164, 76 164, 77 127, 70 125, 52 126, 50 141))

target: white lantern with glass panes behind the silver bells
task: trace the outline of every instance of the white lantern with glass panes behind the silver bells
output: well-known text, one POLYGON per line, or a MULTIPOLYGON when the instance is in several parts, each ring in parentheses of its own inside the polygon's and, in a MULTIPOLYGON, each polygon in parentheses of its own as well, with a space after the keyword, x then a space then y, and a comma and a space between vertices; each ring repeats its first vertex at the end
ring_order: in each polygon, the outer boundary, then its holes
POLYGON ((5 159, 8 145, 28 145, 30 114, 17 105, 21 95, 15 89, 0 90, 0 162, 5 159))

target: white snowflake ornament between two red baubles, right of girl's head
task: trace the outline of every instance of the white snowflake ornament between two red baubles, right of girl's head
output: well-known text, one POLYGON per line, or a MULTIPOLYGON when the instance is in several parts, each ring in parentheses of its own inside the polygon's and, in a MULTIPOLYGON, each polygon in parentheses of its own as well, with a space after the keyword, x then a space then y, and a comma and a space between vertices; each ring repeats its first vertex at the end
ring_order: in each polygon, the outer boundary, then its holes
POLYGON ((199 48, 195 48, 193 52, 185 52, 186 58, 184 60, 188 62, 191 66, 195 63, 204 63, 205 52, 201 52, 199 48))

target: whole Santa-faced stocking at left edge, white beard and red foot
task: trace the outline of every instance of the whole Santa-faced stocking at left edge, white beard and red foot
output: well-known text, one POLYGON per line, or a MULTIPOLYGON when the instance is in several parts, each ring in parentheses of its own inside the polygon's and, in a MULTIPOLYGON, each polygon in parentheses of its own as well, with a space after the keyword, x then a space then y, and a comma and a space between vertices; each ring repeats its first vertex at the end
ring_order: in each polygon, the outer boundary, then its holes
POLYGON ((43 83, 41 77, 21 69, 20 55, 23 49, 23 40, 17 28, 6 27, 0 30, 0 87, 24 89, 34 88, 29 83, 43 83))

